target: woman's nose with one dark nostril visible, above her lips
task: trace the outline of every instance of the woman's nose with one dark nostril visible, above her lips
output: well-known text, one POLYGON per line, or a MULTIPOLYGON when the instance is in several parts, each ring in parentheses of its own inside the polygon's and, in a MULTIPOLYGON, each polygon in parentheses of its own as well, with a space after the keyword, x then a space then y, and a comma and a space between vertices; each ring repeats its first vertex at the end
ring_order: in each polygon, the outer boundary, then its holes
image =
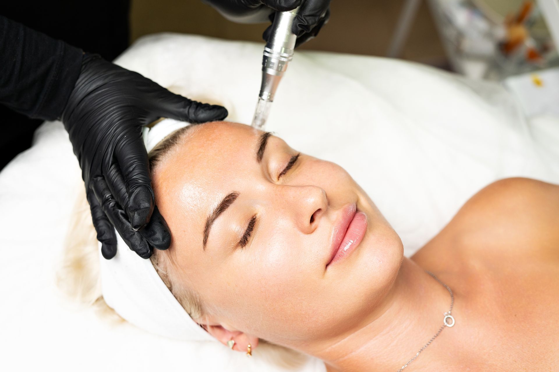
POLYGON ((318 186, 285 186, 290 197, 286 198, 286 207, 292 215, 297 229, 304 234, 311 234, 318 226, 328 208, 326 191, 318 186))

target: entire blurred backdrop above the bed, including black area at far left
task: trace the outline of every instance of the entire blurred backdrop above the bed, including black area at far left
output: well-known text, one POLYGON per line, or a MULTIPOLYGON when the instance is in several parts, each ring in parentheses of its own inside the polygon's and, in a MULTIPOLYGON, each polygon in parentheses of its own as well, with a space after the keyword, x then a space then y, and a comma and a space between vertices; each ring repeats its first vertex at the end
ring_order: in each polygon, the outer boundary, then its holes
MULTIPOLYGON (((330 8, 301 50, 396 57, 491 80, 559 64, 559 0, 333 0, 330 8)), ((108 60, 152 33, 263 44, 268 26, 228 21, 202 0, 4 0, 0 14, 108 60)))

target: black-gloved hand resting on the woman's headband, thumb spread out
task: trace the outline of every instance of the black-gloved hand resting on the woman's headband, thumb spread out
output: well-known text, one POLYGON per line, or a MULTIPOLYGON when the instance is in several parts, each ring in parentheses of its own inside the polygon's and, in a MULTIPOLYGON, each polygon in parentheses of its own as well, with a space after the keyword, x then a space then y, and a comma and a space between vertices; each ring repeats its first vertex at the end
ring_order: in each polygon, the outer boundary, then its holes
POLYGON ((116 254, 113 225, 140 257, 170 245, 169 229, 154 205, 143 125, 160 117, 201 123, 227 114, 224 107, 170 93, 98 55, 84 55, 61 119, 82 167, 103 257, 116 254))

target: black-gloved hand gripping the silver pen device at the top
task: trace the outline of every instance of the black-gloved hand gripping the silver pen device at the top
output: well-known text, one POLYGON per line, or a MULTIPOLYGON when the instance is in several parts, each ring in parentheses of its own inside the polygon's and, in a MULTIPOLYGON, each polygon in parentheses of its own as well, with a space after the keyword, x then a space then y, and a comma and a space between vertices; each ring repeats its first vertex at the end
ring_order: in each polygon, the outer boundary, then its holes
MULTIPOLYGON (((330 0, 203 0, 216 8, 222 15, 235 20, 235 18, 256 14, 262 8, 271 8, 274 11, 290 11, 300 6, 299 13, 293 22, 293 33, 297 35, 295 47, 309 41, 318 35, 320 28, 330 18, 330 0)), ((276 12, 269 15, 273 21, 276 12)), ((245 18, 246 19, 246 18, 245 18)), ((264 31, 262 37, 268 41, 271 26, 264 31)))

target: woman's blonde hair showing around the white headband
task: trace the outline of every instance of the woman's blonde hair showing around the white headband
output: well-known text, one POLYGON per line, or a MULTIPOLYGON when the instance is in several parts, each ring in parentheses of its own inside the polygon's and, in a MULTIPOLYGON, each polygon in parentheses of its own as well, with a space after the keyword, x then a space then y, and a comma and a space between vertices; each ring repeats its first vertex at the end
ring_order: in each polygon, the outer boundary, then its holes
MULTIPOLYGON (((159 164, 172 156, 177 145, 187 141, 186 133, 189 127, 177 129, 159 142, 148 154, 150 170, 153 173, 159 164)), ((83 183, 80 187, 83 190, 83 183)), ((101 292, 100 255, 96 231, 93 227, 89 204, 85 192, 81 192, 75 204, 72 223, 64 244, 64 254, 56 274, 58 287, 68 297, 83 306, 94 307, 98 315, 108 321, 119 323, 124 320, 106 304, 101 292)), ((127 247, 119 247, 127 249, 127 247)), ((205 311, 198 296, 179 283, 173 282, 174 270, 172 258, 168 251, 155 249, 150 260, 159 277, 181 303, 184 310, 195 320, 203 318, 205 311)), ((259 356, 269 363, 282 368, 298 368, 304 363, 306 357, 292 349, 274 345, 271 342, 260 340, 258 346, 259 356)))

